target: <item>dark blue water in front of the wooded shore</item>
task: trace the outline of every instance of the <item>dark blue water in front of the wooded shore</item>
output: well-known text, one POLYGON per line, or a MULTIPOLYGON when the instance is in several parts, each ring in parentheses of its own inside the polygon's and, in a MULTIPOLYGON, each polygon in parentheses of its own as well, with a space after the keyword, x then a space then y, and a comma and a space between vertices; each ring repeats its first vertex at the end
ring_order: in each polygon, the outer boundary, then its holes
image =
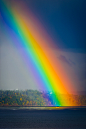
POLYGON ((79 110, 0 109, 0 128, 86 129, 86 108, 79 110))

